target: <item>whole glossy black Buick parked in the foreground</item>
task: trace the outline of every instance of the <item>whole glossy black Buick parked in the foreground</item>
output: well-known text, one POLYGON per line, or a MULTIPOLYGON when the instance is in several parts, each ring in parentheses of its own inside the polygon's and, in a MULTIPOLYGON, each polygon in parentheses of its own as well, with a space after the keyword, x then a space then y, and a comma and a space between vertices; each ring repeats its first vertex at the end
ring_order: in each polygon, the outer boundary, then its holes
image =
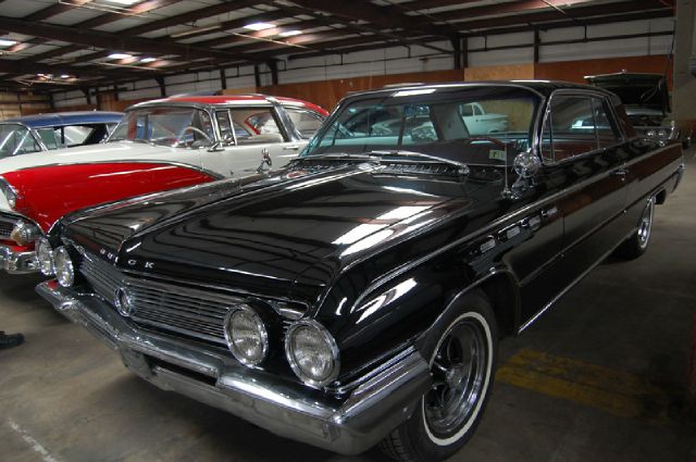
POLYGON ((65 217, 37 290, 165 390, 336 452, 442 460, 481 420, 499 338, 643 253, 682 170, 600 89, 363 92, 276 174, 65 217), (471 134, 471 103, 507 130, 471 134), (347 128, 385 108, 397 129, 347 128))

